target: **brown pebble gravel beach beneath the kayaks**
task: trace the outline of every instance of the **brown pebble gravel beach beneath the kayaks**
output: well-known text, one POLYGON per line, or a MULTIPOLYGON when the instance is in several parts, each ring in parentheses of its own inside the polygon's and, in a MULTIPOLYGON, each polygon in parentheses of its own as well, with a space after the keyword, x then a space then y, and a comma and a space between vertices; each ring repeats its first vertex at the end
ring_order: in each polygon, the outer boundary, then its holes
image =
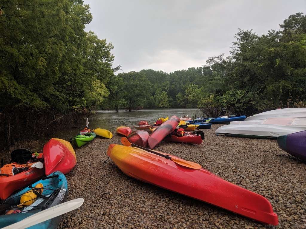
POLYGON ((215 136, 219 126, 204 129, 201 145, 161 142, 155 149, 263 195, 278 215, 278 226, 126 176, 111 159, 103 162, 109 144, 121 144, 112 130, 112 139, 97 137, 76 149, 68 198, 82 197, 84 204, 65 214, 59 228, 306 228, 306 164, 282 151, 276 140, 215 136))

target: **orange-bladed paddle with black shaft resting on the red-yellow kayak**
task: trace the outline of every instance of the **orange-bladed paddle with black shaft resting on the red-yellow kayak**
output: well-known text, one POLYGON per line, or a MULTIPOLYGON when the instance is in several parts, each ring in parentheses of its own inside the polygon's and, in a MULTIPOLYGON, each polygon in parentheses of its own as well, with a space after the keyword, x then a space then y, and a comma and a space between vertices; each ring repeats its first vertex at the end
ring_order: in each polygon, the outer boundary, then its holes
POLYGON ((162 153, 159 153, 157 151, 154 151, 154 150, 149 150, 149 149, 146 149, 144 147, 141 147, 141 146, 138 146, 138 145, 135 145, 135 144, 132 144, 129 142, 129 140, 126 138, 126 137, 122 137, 121 138, 121 143, 125 146, 132 146, 132 147, 137 147, 137 148, 140 148, 142 150, 145 150, 145 151, 148 151, 150 153, 153 153, 153 154, 156 154, 156 155, 159 155, 163 158, 166 158, 168 160, 171 160, 179 165, 182 165, 182 166, 185 166, 185 167, 188 167, 188 168, 191 168, 191 169, 200 169, 202 168, 201 165, 195 163, 195 162, 189 162, 189 161, 185 161, 181 158, 172 158, 170 157, 169 155, 165 155, 165 154, 162 154, 162 153))

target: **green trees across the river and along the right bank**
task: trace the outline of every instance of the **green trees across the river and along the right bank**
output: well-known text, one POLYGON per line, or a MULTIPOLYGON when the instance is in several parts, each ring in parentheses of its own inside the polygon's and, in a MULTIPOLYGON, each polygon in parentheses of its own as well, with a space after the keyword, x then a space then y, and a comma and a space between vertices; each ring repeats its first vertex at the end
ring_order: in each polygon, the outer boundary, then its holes
POLYGON ((121 86, 105 107, 198 107, 209 116, 222 109, 252 115, 267 108, 305 107, 306 16, 290 15, 279 26, 261 36, 238 29, 230 55, 212 56, 201 67, 118 74, 121 86))

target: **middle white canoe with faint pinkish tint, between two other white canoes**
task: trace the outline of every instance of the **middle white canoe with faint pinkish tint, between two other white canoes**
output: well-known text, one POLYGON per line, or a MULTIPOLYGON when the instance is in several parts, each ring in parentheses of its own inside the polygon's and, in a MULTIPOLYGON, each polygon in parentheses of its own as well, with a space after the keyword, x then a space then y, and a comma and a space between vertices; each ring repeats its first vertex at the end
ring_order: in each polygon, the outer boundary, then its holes
POLYGON ((306 126, 306 118, 267 118, 263 120, 236 121, 230 122, 231 125, 292 125, 306 126))

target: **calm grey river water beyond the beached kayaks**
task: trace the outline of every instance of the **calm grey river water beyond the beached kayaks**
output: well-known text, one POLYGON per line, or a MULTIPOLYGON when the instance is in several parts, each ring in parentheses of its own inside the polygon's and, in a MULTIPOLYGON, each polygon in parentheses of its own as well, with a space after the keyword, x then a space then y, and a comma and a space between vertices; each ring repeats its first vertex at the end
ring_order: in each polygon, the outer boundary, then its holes
MULTIPOLYGON (((184 115, 189 115, 192 117, 196 114, 196 108, 187 109, 156 109, 156 110, 139 110, 139 111, 125 111, 120 110, 118 113, 114 111, 97 111, 96 114, 89 120, 89 128, 94 129, 96 127, 108 129, 115 133, 116 128, 121 125, 133 127, 137 125, 140 120, 147 120, 149 124, 153 124, 160 117, 169 117, 176 115, 177 117, 182 117, 184 115)), ((197 110, 197 116, 200 116, 200 112, 197 110)), ((86 125, 86 119, 84 120, 84 128, 86 125)), ((58 131, 52 136, 48 136, 48 139, 52 137, 62 138, 69 140, 71 137, 75 136, 80 129, 68 128, 58 131)), ((46 139, 46 140, 48 140, 46 139)))

